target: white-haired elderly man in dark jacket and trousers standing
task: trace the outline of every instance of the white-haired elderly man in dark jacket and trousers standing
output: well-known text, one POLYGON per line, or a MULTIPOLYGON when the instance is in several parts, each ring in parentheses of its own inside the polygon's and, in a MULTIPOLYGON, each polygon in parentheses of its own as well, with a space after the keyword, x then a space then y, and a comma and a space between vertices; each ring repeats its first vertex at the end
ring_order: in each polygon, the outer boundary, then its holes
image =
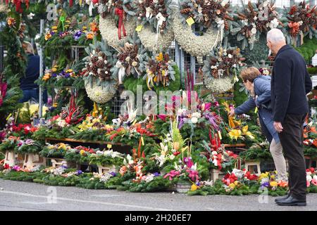
POLYGON ((303 125, 309 112, 306 94, 312 84, 304 58, 285 42, 284 34, 272 29, 267 46, 275 54, 271 79, 273 124, 289 164, 290 193, 275 200, 278 205, 306 205, 306 166, 303 125))

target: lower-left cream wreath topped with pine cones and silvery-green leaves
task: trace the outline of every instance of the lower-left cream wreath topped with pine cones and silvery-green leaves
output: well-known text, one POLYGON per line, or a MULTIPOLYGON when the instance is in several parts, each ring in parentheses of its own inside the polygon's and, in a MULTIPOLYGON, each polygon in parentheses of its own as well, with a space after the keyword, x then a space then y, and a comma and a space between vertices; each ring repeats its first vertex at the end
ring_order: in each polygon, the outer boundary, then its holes
POLYGON ((85 68, 82 69, 85 89, 89 98, 97 103, 106 103, 116 93, 117 81, 113 76, 113 53, 109 51, 105 43, 96 41, 85 49, 88 56, 85 61, 85 68), (94 94, 95 91, 95 94, 94 94), (110 99, 109 99, 110 98, 110 99))

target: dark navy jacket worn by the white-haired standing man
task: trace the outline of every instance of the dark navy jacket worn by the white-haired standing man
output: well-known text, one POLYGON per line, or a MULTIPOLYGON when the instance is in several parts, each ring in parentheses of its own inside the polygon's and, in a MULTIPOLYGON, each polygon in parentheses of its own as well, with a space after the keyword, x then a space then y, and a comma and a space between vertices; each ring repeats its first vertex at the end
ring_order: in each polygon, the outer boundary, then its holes
POLYGON ((304 58, 292 46, 282 46, 275 56, 271 79, 273 120, 283 122, 286 114, 308 113, 306 94, 311 89, 304 58))

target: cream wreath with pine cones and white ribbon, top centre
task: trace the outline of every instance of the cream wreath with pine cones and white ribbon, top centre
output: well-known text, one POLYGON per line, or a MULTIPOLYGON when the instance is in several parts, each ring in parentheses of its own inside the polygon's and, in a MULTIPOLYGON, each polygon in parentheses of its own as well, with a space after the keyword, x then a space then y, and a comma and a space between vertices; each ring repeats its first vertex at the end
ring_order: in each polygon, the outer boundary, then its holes
POLYGON ((174 39, 171 0, 139 0, 137 4, 138 35, 149 51, 168 49, 174 39))

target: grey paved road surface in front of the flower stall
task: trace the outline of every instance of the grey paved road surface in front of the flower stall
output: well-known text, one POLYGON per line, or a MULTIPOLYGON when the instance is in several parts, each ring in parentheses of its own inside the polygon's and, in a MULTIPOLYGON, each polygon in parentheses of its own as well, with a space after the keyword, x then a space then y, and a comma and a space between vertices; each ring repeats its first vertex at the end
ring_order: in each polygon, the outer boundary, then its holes
POLYGON ((129 193, 44 186, 0 179, 0 210, 93 211, 278 211, 317 210, 317 194, 307 195, 306 207, 281 207, 275 197, 263 195, 188 196, 181 193, 129 193), (56 197, 56 198, 55 198, 56 197))

